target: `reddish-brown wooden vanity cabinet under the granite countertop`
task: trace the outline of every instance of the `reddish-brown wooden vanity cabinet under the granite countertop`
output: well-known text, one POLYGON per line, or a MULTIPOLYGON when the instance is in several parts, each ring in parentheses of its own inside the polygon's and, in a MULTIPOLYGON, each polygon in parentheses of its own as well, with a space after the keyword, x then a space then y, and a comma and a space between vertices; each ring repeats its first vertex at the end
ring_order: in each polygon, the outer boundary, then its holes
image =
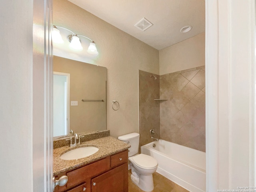
POLYGON ((65 186, 54 192, 128 192, 128 150, 108 156, 70 172, 65 186))

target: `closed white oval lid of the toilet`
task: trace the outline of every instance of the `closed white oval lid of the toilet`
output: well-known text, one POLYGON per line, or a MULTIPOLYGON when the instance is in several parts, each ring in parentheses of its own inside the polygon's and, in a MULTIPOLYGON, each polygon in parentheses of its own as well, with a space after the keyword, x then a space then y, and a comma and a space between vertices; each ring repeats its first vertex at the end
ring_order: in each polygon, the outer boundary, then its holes
POLYGON ((145 155, 145 154, 138 154, 133 157, 134 163, 142 168, 150 169, 158 166, 158 162, 155 158, 145 155))

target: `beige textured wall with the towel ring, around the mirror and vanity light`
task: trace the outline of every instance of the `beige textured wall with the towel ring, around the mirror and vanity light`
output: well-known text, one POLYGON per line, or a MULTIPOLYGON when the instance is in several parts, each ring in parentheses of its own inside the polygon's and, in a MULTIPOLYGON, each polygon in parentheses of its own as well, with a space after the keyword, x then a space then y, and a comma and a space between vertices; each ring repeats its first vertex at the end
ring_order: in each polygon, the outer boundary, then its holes
POLYGON ((138 70, 159 74, 159 52, 100 18, 68 2, 53 1, 53 24, 93 39, 95 64, 107 68, 107 129, 113 137, 138 132, 138 70), (112 100, 120 108, 112 109, 112 100))

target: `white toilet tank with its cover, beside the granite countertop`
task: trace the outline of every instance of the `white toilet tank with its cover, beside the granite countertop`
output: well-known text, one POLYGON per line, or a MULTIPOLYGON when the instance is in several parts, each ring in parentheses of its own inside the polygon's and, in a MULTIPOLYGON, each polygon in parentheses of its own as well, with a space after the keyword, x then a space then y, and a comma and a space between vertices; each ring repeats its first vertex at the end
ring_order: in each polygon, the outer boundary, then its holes
POLYGON ((124 141, 129 144, 131 147, 128 149, 128 156, 133 156, 138 153, 139 150, 139 141, 140 134, 138 133, 130 133, 126 135, 122 135, 118 137, 118 140, 124 141))

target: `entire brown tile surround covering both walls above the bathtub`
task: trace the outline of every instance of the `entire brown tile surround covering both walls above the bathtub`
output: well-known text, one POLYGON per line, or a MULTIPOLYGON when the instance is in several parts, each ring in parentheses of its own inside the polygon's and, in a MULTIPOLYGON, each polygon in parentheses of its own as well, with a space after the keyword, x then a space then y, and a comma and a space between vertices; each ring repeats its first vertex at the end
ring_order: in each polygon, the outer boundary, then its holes
POLYGON ((139 71, 140 144, 154 128, 163 140, 205 152, 204 66, 161 75, 159 89, 150 75, 139 71))

